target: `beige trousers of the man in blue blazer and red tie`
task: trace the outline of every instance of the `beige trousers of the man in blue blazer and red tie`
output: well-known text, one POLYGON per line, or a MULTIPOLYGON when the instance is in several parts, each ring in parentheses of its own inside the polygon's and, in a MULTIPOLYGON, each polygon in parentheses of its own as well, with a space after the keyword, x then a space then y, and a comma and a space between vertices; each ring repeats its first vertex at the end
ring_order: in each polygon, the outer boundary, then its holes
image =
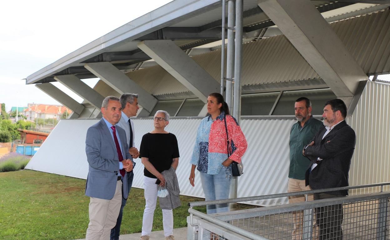
POLYGON ((110 232, 121 210, 122 181, 117 182, 114 197, 111 200, 90 198, 89 224, 85 240, 109 240, 110 232))

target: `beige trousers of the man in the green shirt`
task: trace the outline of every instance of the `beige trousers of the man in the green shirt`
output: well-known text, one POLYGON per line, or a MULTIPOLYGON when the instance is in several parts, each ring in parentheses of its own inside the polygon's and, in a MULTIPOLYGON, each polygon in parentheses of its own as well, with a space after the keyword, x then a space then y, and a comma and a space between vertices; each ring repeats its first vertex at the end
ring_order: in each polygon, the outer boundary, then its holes
MULTIPOLYGON (((298 191, 307 191, 311 190, 309 186, 305 186, 305 180, 298 180, 298 179, 292 179, 289 178, 289 183, 287 185, 287 192, 298 192, 298 191)), ((289 203, 298 203, 305 201, 305 195, 296 195, 296 196, 290 196, 289 197, 289 203)), ((313 200, 313 194, 309 194, 307 196, 308 201, 313 200)), ((315 215, 313 214, 313 237, 312 239, 317 239, 314 236, 316 235, 317 229, 316 229, 316 220, 315 215)), ((301 240, 302 239, 302 227, 303 227, 303 211, 296 211, 293 212, 293 224, 294 228, 291 232, 291 239, 293 240, 301 240)))

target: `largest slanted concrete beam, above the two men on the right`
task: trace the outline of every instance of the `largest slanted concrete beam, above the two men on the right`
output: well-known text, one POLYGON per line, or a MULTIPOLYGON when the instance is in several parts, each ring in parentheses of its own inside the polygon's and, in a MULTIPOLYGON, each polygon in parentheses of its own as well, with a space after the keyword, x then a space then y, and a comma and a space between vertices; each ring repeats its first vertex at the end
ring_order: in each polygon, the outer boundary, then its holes
POLYGON ((353 96, 358 82, 368 79, 310 0, 258 0, 258 5, 337 97, 353 96))

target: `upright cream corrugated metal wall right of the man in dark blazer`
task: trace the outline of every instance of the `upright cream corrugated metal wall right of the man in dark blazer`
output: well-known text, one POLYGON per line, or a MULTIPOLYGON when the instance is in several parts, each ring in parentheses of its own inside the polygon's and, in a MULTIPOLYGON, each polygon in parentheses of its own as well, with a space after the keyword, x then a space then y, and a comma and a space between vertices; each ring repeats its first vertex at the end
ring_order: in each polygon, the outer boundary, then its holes
MULTIPOLYGON (((367 82, 347 123, 356 131, 349 185, 390 182, 390 85, 367 82)), ((379 188, 354 190, 368 193, 379 188)))

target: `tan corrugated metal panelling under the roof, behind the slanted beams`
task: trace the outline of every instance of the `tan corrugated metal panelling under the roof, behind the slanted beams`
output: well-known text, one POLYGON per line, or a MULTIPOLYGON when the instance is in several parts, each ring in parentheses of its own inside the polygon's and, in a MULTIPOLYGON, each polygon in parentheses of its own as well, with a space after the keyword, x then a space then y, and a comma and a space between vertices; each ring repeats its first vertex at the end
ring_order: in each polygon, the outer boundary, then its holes
MULTIPOLYGON (((389 12, 387 9, 330 24, 367 74, 390 72, 389 12)), ((220 81, 221 50, 192 58, 220 81)), ((242 72, 244 86, 319 78, 284 35, 244 44, 242 72)), ((152 95, 189 91, 160 66, 127 75, 152 95)))

